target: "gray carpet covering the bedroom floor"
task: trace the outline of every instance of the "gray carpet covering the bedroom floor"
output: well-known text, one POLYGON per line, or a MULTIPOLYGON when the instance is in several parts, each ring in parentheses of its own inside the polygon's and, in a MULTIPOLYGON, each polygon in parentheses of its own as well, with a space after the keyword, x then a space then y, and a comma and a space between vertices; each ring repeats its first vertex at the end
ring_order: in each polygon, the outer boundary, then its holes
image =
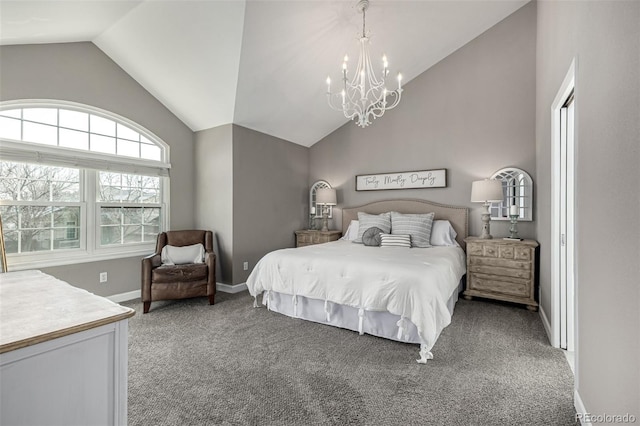
POLYGON ((154 302, 129 321, 130 425, 573 425, 573 377, 537 313, 460 300, 435 359, 253 308, 154 302))

